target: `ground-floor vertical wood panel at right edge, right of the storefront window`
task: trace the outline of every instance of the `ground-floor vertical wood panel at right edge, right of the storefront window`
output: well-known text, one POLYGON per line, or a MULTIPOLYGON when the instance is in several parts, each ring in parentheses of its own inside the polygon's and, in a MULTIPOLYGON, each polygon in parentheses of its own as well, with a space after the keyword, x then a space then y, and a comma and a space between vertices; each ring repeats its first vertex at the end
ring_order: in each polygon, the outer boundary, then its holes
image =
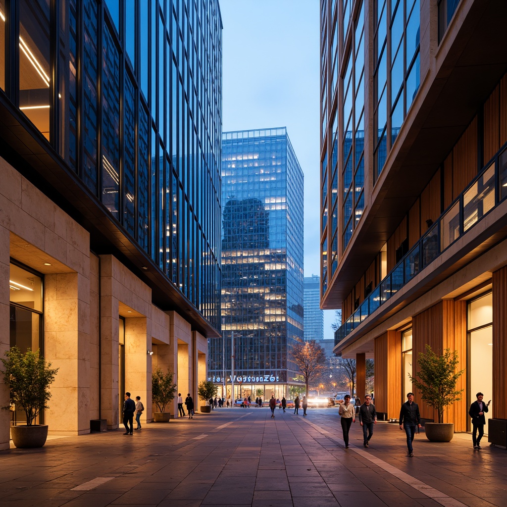
POLYGON ((507 419, 507 267, 493 272, 493 406, 492 417, 507 419))

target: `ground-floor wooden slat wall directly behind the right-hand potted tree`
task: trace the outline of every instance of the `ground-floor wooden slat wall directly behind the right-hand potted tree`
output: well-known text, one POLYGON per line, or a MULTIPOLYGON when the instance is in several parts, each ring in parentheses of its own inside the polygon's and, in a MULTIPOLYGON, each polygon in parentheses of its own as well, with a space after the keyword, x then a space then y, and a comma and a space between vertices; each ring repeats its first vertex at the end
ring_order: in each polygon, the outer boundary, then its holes
MULTIPOLYGON (((446 349, 458 350, 459 369, 466 367, 466 302, 453 300, 440 301, 424 312, 413 317, 413 374, 419 369, 419 353, 425 351, 428 344, 436 353, 446 349)), ((466 388, 466 376, 463 374, 457 389, 466 388)), ((420 392, 414 388, 416 402, 419 403, 421 417, 437 420, 436 411, 421 400, 420 392)), ((466 430, 466 392, 462 400, 448 407, 444 413, 444 421, 453 421, 455 431, 466 430)))

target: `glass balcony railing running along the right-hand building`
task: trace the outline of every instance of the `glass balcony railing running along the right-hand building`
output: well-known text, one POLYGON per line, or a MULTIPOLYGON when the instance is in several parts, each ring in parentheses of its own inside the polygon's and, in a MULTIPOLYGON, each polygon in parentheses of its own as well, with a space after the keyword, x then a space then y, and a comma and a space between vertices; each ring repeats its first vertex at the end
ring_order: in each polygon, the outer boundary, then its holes
POLYGON ((345 320, 335 332, 335 345, 507 197, 505 146, 345 320))

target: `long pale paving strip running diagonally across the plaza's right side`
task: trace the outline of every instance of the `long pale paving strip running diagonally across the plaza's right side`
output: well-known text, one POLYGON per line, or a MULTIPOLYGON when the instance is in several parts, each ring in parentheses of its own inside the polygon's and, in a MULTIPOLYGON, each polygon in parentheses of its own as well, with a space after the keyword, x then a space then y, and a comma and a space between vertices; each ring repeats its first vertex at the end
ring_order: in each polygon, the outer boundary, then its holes
MULTIPOLYGON (((309 421, 308 419, 303 419, 307 424, 309 424, 313 429, 316 429, 318 432, 323 434, 325 437, 331 438, 333 441, 336 442, 336 435, 332 433, 331 431, 328 431, 321 426, 318 426, 317 424, 309 421)), ((441 505, 444 505, 444 507, 466 507, 466 505, 459 500, 456 500, 455 498, 446 495, 442 491, 439 491, 438 489, 433 488, 432 486, 429 486, 428 484, 419 481, 418 479, 415 479, 411 475, 407 474, 406 472, 403 472, 399 468, 396 468, 395 466, 387 463, 383 459, 377 458, 376 456, 372 456, 370 453, 364 451, 363 449, 358 449, 354 445, 350 445, 350 450, 354 451, 359 456, 368 459, 372 463, 376 464, 392 476, 396 477, 397 479, 400 479, 408 486, 416 489, 420 493, 426 495, 428 498, 433 499, 434 501, 440 503, 441 505)))

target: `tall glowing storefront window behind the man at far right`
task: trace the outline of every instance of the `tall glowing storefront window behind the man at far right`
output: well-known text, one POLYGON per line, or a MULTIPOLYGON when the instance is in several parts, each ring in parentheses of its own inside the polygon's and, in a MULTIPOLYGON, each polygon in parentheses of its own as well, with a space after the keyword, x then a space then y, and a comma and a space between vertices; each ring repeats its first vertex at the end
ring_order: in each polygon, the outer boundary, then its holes
MULTIPOLYGON (((468 339, 468 405, 476 401, 476 393, 484 393, 484 401, 491 399, 493 386, 493 295, 480 296, 468 302, 467 339, 468 339)), ((491 416, 487 412, 487 420, 491 416)), ((470 419, 468 418, 468 425, 470 419)), ((467 428, 468 430, 470 427, 467 428)))

